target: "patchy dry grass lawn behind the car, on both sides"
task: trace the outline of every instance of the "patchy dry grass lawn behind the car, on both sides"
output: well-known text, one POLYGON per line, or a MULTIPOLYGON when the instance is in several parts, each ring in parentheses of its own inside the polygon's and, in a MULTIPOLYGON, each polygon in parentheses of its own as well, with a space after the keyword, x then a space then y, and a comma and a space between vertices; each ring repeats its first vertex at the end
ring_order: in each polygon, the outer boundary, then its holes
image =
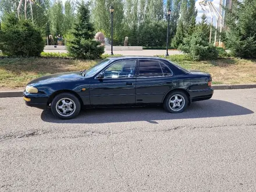
MULTIPOLYGON (((201 70, 212 74, 214 84, 256 83, 256 60, 218 59, 190 61, 172 58, 186 69, 201 70)), ((52 73, 80 71, 97 61, 59 58, 5 58, 0 59, 0 90, 21 89, 37 77, 52 73)))

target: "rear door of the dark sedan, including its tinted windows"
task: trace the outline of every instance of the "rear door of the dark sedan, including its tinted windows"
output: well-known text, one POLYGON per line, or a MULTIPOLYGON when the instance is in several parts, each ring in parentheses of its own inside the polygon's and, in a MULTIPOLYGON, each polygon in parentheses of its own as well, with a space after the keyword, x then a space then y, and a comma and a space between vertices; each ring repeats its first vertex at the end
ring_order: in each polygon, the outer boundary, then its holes
POLYGON ((165 63, 139 60, 136 77, 136 103, 161 103, 165 94, 175 86, 175 77, 165 63))

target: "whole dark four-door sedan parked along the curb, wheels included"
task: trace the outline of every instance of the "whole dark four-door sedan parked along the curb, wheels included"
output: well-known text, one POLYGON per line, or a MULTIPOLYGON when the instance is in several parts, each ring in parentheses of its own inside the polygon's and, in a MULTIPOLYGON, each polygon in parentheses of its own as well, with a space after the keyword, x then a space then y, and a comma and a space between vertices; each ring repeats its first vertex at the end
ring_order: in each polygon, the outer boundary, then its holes
POLYGON ((57 73, 26 86, 26 105, 51 109, 61 119, 80 109, 102 106, 161 104, 171 113, 183 112, 194 101, 214 93, 208 73, 186 70, 163 58, 122 56, 106 58, 90 69, 57 73))

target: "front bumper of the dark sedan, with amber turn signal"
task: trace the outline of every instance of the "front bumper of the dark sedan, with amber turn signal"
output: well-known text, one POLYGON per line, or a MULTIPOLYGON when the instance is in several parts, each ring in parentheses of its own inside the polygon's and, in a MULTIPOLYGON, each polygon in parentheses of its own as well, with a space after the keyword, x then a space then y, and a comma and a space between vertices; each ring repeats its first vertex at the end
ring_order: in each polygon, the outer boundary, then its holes
POLYGON ((45 94, 30 94, 26 91, 23 92, 23 100, 27 106, 39 108, 39 109, 47 109, 48 97, 45 97, 45 94))

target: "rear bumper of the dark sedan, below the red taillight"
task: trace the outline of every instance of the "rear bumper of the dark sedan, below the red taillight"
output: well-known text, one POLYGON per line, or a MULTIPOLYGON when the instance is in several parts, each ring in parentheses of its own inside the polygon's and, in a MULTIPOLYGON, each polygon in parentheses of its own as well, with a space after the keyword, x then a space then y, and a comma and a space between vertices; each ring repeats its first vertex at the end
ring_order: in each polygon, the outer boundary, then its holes
POLYGON ((202 101, 202 100, 211 99, 212 95, 214 94, 214 89, 208 88, 205 90, 190 91, 189 94, 190 94, 191 102, 202 101))

